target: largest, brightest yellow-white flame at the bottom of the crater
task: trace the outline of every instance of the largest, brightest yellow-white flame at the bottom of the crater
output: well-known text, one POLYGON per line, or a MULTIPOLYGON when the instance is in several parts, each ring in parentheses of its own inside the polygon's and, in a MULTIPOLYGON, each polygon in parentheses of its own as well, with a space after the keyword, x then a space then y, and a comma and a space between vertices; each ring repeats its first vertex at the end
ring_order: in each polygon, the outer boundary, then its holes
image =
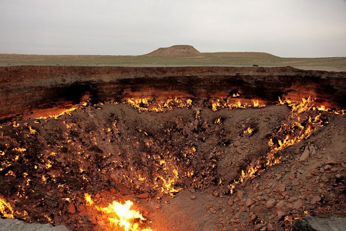
MULTIPOLYGON (((85 193, 84 197, 88 206, 94 204, 89 194, 85 193)), ((127 200, 124 203, 113 201, 112 203, 109 203, 107 207, 100 207, 98 205, 95 205, 94 207, 108 216, 109 225, 112 229, 121 229, 124 231, 152 231, 152 229, 149 228, 139 228, 140 223, 146 219, 139 213, 139 211, 132 210, 132 205, 133 202, 127 200)))

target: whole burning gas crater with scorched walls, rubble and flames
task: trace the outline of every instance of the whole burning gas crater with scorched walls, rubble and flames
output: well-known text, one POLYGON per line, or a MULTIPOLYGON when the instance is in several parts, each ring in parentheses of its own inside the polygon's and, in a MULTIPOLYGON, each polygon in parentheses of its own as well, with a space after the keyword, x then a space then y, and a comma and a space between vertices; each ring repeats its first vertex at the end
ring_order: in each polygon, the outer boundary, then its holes
POLYGON ((0 67, 0 215, 72 230, 345 216, 345 72, 0 67))

